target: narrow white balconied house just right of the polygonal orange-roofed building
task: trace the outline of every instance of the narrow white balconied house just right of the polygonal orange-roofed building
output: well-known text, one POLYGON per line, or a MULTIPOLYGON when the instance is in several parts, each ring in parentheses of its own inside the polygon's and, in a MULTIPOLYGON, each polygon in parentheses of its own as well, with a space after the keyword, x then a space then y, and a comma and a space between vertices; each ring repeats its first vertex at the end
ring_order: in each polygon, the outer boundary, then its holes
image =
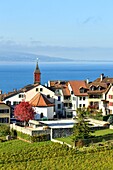
POLYGON ((55 92, 55 112, 58 118, 72 117, 71 93, 67 81, 49 81, 48 86, 55 92))

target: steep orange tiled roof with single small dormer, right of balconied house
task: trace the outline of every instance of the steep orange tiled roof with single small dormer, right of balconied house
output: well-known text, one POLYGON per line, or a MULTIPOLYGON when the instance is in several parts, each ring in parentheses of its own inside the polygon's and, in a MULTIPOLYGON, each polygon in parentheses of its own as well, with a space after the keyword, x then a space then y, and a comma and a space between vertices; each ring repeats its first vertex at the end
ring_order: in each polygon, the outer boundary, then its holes
POLYGON ((87 92, 85 93, 80 93, 80 88, 84 88, 87 90, 87 85, 85 81, 82 80, 73 80, 73 81, 69 81, 73 93, 75 96, 88 96, 87 92))

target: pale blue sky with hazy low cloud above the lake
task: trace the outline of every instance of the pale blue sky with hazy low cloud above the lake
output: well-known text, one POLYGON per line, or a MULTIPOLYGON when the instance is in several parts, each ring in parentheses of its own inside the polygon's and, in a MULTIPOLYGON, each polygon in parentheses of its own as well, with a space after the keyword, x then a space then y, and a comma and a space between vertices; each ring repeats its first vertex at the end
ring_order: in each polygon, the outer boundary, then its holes
POLYGON ((113 57, 113 0, 1 0, 0 51, 113 57))

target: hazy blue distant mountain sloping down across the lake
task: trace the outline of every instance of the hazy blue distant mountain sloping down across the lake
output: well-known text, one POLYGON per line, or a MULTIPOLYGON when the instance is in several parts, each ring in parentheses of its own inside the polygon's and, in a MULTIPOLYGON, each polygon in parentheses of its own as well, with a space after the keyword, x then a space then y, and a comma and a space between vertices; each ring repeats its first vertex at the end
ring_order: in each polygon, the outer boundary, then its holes
POLYGON ((34 62, 36 59, 40 62, 72 62, 72 59, 65 59, 60 57, 50 57, 45 55, 36 55, 31 53, 18 53, 18 52, 0 52, 1 62, 34 62))

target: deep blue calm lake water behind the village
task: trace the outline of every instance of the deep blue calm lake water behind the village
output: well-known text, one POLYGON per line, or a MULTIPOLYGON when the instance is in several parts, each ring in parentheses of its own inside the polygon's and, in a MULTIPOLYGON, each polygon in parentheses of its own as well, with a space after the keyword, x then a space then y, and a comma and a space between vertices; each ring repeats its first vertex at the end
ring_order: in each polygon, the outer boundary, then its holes
MULTIPOLYGON (((0 89, 3 92, 20 89, 33 83, 36 63, 0 65, 0 89)), ((112 63, 39 63, 41 84, 48 80, 96 79, 101 73, 113 77, 112 63)))

